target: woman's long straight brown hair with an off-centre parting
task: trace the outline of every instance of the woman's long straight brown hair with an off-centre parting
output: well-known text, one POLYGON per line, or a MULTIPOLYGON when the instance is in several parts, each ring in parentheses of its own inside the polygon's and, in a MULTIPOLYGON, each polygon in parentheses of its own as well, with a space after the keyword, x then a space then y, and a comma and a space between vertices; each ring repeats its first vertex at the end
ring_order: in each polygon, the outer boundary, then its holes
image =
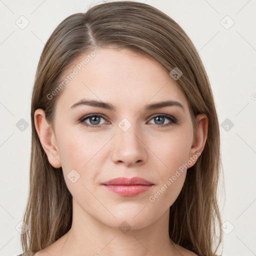
POLYGON ((170 206, 169 237, 198 255, 212 256, 222 240, 217 204, 221 169, 219 124, 210 83, 198 53, 184 30, 158 9, 140 2, 115 1, 95 5, 85 13, 65 18, 52 32, 41 53, 31 98, 31 161, 29 194, 21 234, 22 249, 35 252, 50 245, 71 227, 72 196, 62 169, 47 160, 35 130, 34 111, 41 108, 52 123, 59 93, 47 97, 61 82, 68 67, 96 47, 116 45, 157 60, 167 72, 182 71, 176 80, 195 117, 208 118, 207 139, 184 185, 170 206), (217 230, 219 234, 217 235, 217 230), (214 245, 213 241, 217 241, 214 245), (213 248, 215 246, 215 250, 213 248))

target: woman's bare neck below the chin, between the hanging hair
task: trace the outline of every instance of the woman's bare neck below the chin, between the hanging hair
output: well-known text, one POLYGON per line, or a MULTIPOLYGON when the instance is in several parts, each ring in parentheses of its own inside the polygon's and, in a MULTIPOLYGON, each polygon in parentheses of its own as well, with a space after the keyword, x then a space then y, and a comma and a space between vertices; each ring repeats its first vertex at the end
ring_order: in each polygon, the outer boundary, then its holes
POLYGON ((168 235, 168 217, 169 209, 147 226, 137 228, 136 225, 136 229, 133 229, 128 222, 117 219, 116 226, 109 226, 93 218, 73 199, 72 226, 65 234, 60 254, 180 255, 168 235))

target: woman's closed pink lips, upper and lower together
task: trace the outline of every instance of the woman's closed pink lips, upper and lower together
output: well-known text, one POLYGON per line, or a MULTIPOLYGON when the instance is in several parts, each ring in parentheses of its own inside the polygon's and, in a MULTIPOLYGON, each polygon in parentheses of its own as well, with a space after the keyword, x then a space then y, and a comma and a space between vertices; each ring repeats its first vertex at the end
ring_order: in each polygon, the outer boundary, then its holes
POLYGON ((140 177, 118 177, 102 183, 108 190, 122 196, 134 196, 150 189, 154 184, 140 177))

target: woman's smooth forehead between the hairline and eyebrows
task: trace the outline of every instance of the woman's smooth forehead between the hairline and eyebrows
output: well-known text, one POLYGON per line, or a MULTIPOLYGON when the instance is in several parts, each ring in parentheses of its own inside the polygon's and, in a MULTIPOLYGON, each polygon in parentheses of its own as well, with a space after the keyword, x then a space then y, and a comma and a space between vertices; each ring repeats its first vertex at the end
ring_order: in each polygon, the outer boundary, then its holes
POLYGON ((88 52, 77 58, 65 75, 71 72, 75 74, 61 91, 57 108, 67 110, 82 98, 129 109, 160 100, 177 100, 188 107, 167 70, 156 60, 129 49, 98 48, 96 54, 88 52))

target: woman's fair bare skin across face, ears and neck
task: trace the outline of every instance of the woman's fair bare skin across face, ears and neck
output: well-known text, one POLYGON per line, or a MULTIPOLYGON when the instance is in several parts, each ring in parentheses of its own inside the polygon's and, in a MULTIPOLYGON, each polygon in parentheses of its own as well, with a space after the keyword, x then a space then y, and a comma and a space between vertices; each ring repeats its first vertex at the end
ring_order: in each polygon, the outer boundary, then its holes
MULTIPOLYGON (((47 123, 42 109, 34 113, 36 131, 48 160, 52 166, 62 167, 73 197, 71 229, 35 255, 180 255, 169 239, 168 214, 189 170, 180 172, 155 201, 148 198, 189 157, 202 152, 207 117, 197 116, 197 133, 193 136, 186 98, 159 63, 128 49, 98 49, 96 56, 62 89, 53 124, 47 123), (70 108, 82 98, 109 102, 116 109, 89 105, 70 108), (163 100, 176 100, 184 110, 178 106, 143 109, 146 104, 163 100), (92 113, 104 116, 100 127, 86 127, 79 122, 92 113), (167 118, 163 124, 156 122, 153 117, 161 114, 173 116, 178 122, 159 127, 171 123, 167 118), (126 131, 118 126, 123 118, 131 124, 126 131), (67 177, 72 169, 80 175, 74 183, 67 177), (119 176, 139 176, 154 185, 131 197, 101 185, 119 176), (130 226, 126 233, 118 228, 123 221, 130 226)), ((81 59, 84 56, 77 62, 81 59)), ((89 118, 83 122, 96 125, 89 118)), ((177 247, 183 255, 195 255, 177 247)))

